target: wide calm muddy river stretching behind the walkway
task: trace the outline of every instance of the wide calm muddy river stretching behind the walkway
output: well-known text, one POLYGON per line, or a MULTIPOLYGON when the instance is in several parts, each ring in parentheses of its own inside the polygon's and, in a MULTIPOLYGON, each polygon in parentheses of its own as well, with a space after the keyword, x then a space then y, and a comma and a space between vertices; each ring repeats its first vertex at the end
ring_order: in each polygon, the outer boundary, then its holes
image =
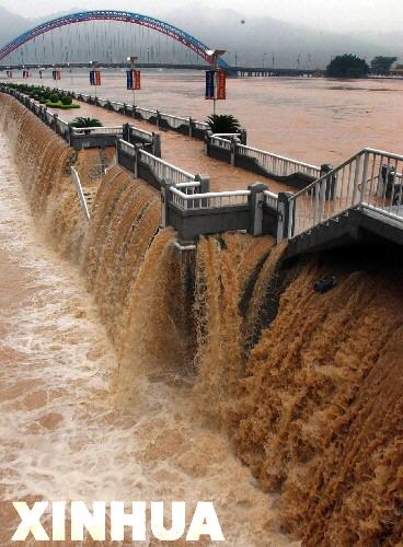
MULTIPOLYGON (((53 86, 49 75, 42 83, 53 86)), ((94 92, 82 72, 64 71, 59 86, 94 92)), ((196 119, 211 113, 203 72, 143 71, 136 93, 138 106, 196 119)), ((103 70, 99 96, 131 103, 125 72, 103 70)), ((250 146, 308 163, 337 164, 365 147, 402 153, 403 80, 234 79, 218 112, 241 120, 250 146)))

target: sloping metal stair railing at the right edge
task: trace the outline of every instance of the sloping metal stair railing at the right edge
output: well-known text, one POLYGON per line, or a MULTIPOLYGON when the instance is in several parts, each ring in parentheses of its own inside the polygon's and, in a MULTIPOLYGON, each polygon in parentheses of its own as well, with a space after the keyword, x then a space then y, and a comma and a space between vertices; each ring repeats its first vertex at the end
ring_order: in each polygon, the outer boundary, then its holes
POLYGON ((403 223, 403 155, 364 149, 289 199, 288 237, 354 207, 369 207, 403 223))

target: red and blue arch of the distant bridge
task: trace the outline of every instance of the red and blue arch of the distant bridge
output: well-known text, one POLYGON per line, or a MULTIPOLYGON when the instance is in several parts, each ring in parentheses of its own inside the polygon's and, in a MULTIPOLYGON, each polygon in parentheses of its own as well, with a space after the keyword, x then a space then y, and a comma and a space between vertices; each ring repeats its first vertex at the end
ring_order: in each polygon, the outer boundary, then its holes
MULTIPOLYGON (((159 19, 151 18, 149 15, 142 15, 140 13, 134 13, 129 11, 116 11, 116 10, 96 10, 96 11, 83 11, 79 13, 70 13, 68 15, 64 15, 61 18, 53 19, 41 25, 35 26, 15 37, 8 44, 5 44, 0 49, 0 61, 5 59, 11 53, 15 51, 24 44, 31 42, 32 39, 46 34, 48 32, 54 31, 55 28, 60 28, 62 26, 85 23, 89 21, 116 21, 126 24, 135 24, 140 25, 147 28, 151 28, 157 31, 170 38, 182 44, 184 47, 187 47, 192 51, 194 51, 198 57, 204 59, 209 65, 212 65, 212 57, 209 54, 209 47, 195 38, 191 34, 179 28, 177 26, 171 25, 165 21, 161 21, 159 19)), ((223 70, 230 71, 230 66, 221 58, 218 59, 218 65, 223 70)))

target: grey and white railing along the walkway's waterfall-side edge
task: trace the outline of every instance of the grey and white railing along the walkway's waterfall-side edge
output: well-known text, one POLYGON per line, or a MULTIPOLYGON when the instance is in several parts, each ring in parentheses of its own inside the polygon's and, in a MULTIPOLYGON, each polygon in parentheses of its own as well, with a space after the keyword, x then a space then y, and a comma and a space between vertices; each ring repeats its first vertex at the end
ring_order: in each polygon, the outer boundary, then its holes
MULTIPOLYGON (((70 139, 105 137, 102 130, 107 128, 89 128, 92 135, 85 135, 85 130, 84 135, 81 135, 80 129, 79 135, 65 121, 58 120, 57 115, 50 115, 46 108, 34 107, 34 102, 26 96, 21 97, 21 101, 28 107, 35 108, 38 117, 45 123, 51 123, 54 130, 69 129, 70 139), (100 130, 101 133, 97 133, 100 130)), ((125 126, 126 131, 133 129, 131 136, 136 136, 136 128, 128 126, 125 126)), ((254 235, 277 234, 280 218, 277 205, 280 196, 276 199, 276 195, 269 193, 266 185, 256 183, 246 190, 211 193, 208 176, 194 175, 181 170, 146 151, 145 143, 130 143, 119 138, 120 128, 114 129, 117 163, 131 171, 135 177, 145 179, 161 191, 162 225, 172 225, 181 241, 229 230, 243 230, 254 235)), ((150 135, 152 133, 148 133, 146 138, 149 139, 150 135)), ((78 173, 76 170, 71 173, 83 214, 89 219, 78 173)))

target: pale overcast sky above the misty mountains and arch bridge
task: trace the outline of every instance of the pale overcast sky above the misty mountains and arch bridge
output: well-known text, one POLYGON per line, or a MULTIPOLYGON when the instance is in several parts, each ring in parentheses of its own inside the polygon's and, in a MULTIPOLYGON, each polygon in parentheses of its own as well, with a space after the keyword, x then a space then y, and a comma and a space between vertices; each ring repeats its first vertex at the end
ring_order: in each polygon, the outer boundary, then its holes
MULTIPOLYGON (((194 0, 0 0, 0 5, 25 16, 44 16, 80 9, 125 9, 149 15, 166 13, 194 0)), ((199 0, 204 9, 237 10, 247 21, 250 13, 324 27, 326 31, 402 32, 403 0, 199 0)))

